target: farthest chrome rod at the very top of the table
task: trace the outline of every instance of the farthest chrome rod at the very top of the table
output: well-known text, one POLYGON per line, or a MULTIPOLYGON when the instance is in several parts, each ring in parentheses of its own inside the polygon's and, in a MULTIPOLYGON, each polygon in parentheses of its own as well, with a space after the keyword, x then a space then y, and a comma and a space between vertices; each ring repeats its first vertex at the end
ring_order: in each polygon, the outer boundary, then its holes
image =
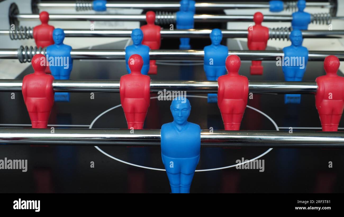
MULTIPOLYGON (((296 3, 297 1, 291 1, 296 3)), ((86 7, 92 7, 89 1, 85 3, 86 7)), ((37 4, 39 9, 44 8, 76 8, 77 2, 73 1, 51 1, 40 2, 37 4)), ((330 2, 306 2, 307 8, 321 7, 332 8, 330 2)), ((132 8, 132 9, 147 9, 147 10, 179 10, 179 2, 109 2, 106 4, 107 8, 132 8)), ((218 9, 262 9, 270 8, 269 2, 211 2, 211 3, 196 3, 196 10, 218 10, 218 9)))

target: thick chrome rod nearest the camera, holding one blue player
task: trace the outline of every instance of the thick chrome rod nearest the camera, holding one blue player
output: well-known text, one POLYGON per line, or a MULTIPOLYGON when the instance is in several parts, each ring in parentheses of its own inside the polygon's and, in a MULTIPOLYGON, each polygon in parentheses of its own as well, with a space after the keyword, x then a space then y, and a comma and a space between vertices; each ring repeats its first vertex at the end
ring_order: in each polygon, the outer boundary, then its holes
MULTIPOLYGON (((1 145, 160 146, 160 129, 0 128, 1 145)), ((344 148, 344 132, 201 131, 203 147, 344 148)))

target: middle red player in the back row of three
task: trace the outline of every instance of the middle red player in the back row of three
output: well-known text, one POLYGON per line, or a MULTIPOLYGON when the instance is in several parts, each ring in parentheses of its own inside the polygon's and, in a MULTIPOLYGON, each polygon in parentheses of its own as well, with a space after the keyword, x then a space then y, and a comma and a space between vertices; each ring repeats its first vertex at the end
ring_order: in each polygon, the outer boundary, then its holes
MULTIPOLYGON (((155 13, 153 11, 148 11, 146 13, 147 25, 141 26, 143 32, 142 44, 147 45, 152 50, 160 49, 161 36, 160 30, 161 27, 154 25, 155 22, 155 13)), ((155 65, 156 60, 149 61, 149 71, 148 74, 157 74, 157 65, 155 65)))

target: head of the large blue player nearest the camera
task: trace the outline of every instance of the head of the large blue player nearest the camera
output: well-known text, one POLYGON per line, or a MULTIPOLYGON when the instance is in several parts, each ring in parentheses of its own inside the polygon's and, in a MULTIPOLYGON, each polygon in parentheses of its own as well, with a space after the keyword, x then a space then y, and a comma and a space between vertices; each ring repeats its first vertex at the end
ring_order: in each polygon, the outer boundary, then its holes
POLYGON ((178 96, 172 100, 170 110, 173 121, 178 125, 183 125, 187 122, 187 118, 189 118, 191 105, 186 97, 178 96))

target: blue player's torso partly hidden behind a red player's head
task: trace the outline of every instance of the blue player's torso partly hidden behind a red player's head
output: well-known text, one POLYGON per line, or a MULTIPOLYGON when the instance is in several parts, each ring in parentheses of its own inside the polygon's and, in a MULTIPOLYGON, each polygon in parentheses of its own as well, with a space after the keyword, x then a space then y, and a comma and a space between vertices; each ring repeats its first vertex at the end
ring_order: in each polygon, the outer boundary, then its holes
POLYGON ((147 75, 148 71, 149 71, 149 47, 147 45, 130 45, 126 47, 126 66, 127 66, 127 70, 128 73, 130 73, 130 68, 128 65, 128 60, 129 57, 133 54, 138 54, 142 57, 143 59, 143 66, 141 69, 141 73, 142 75, 147 75))

